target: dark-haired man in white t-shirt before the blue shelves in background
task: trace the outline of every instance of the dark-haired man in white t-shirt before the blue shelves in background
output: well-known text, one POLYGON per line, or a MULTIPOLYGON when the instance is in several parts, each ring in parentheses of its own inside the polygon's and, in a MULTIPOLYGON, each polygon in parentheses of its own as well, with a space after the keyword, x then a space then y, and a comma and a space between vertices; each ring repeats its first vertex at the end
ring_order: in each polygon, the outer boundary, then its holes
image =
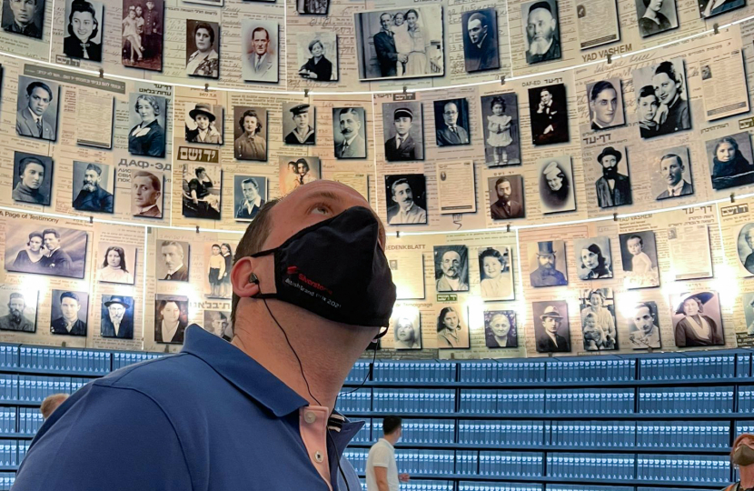
POLYGON ((401 482, 408 482, 409 475, 398 476, 395 463, 395 444, 401 439, 402 419, 400 416, 385 416, 382 419, 382 438, 369 449, 366 458, 367 491, 399 491, 401 482))

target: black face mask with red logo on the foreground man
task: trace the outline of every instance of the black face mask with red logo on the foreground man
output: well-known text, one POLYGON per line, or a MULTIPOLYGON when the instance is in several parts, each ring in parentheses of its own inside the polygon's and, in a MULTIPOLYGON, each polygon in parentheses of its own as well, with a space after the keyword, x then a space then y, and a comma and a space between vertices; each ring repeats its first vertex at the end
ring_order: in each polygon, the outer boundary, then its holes
POLYGON ((274 254, 277 298, 318 316, 353 326, 388 326, 395 285, 380 247, 380 225, 362 206, 304 228, 274 254))

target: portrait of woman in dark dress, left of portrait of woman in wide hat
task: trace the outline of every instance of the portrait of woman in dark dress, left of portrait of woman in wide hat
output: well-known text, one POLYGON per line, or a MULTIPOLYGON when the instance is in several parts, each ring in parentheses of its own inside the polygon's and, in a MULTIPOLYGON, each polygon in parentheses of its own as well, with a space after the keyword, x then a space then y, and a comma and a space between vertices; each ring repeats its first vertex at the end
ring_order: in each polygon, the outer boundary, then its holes
POLYGON ((128 95, 128 106, 131 108, 128 153, 164 157, 167 97, 132 92, 128 95))

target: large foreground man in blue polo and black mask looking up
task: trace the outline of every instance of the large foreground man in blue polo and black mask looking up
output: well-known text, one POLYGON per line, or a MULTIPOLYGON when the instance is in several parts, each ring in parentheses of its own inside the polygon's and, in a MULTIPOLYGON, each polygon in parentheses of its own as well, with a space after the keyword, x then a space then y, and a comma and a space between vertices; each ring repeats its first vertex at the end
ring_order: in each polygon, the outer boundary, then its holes
POLYGON ((389 324, 396 296, 384 243, 379 218, 346 185, 318 181, 265 204, 236 250, 233 343, 190 326, 180 355, 76 392, 37 433, 15 491, 358 491, 341 456, 362 423, 331 408, 389 324), (286 277, 326 284, 317 290, 332 288, 340 308, 295 296, 298 287, 275 281, 276 264, 293 264, 257 254, 291 246, 296 271, 286 277))

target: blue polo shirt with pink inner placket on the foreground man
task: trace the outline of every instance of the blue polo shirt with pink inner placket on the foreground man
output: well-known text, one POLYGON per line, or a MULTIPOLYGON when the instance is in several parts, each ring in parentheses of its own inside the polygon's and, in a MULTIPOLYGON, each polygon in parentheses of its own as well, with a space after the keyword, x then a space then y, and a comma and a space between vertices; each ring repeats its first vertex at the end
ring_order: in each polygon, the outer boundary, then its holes
POLYGON ((181 353, 117 370, 65 401, 13 489, 328 491, 329 463, 333 491, 346 490, 343 477, 361 491, 352 466, 338 462, 363 423, 337 428, 326 416, 237 347, 190 326, 181 353))

